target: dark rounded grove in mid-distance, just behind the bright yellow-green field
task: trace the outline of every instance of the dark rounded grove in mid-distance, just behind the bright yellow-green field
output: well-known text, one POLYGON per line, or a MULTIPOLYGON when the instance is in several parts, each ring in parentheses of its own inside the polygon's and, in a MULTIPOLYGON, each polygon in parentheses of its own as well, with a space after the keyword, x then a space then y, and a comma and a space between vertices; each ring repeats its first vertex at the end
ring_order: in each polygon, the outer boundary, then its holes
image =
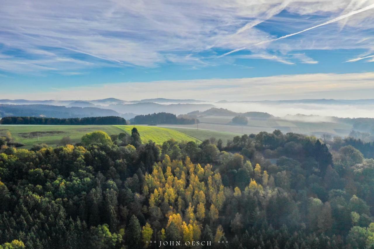
POLYGON ((153 113, 138 115, 130 119, 132 124, 196 124, 198 119, 190 117, 177 117, 172 113, 153 113))

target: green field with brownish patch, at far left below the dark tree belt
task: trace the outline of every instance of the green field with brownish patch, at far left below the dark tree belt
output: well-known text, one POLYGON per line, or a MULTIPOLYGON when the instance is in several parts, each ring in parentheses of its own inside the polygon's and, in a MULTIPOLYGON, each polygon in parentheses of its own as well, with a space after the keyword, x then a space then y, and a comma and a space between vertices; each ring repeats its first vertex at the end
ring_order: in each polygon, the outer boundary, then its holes
POLYGON ((0 134, 9 131, 16 142, 25 144, 22 148, 31 148, 33 144, 56 146, 64 136, 77 143, 83 135, 95 130, 102 130, 108 135, 122 132, 111 125, 0 125, 0 134))

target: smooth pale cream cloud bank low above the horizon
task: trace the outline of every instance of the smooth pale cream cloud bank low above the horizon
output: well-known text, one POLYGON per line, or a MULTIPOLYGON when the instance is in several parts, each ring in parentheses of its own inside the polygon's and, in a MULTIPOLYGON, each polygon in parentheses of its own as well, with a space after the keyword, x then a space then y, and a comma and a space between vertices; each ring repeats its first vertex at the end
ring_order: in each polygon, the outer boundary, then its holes
POLYGON ((0 93, 0 98, 136 100, 156 98, 205 99, 301 99, 301 98, 373 98, 374 72, 352 74, 297 74, 271 77, 209 80, 164 80, 154 82, 107 83, 30 93, 0 93))

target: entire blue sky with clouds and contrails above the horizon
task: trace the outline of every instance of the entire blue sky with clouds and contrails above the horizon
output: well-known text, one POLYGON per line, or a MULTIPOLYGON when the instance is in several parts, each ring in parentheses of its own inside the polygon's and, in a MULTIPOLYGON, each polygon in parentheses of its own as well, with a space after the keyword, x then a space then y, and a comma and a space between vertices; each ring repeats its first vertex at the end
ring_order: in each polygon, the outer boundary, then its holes
POLYGON ((374 96, 374 0, 0 0, 1 99, 374 96))

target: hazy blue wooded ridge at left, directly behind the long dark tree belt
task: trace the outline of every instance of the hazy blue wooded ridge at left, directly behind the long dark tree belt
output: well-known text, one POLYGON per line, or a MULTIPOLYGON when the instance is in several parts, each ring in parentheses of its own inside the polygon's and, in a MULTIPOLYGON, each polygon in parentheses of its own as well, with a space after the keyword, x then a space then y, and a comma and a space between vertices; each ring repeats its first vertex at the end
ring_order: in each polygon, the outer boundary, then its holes
POLYGON ((27 117, 104 117, 120 116, 119 113, 109 109, 96 107, 65 107, 56 105, 5 105, 0 104, 0 116, 27 116, 27 117))

